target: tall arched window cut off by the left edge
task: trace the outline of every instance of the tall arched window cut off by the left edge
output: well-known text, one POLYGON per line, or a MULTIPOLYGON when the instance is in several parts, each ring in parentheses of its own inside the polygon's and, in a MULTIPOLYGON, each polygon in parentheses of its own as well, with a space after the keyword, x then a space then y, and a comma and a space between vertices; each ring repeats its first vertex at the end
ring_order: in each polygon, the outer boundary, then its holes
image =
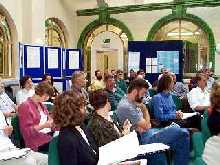
POLYGON ((12 41, 8 22, 0 15, 0 76, 10 77, 12 71, 12 41))

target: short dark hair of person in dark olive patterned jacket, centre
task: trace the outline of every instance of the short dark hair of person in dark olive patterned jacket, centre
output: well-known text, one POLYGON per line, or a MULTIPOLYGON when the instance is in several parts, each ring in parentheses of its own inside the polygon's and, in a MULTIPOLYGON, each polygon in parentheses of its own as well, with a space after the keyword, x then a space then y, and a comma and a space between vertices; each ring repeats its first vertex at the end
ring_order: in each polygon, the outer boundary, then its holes
POLYGON ((103 108, 108 101, 108 94, 106 91, 99 89, 90 94, 89 101, 95 110, 103 108))

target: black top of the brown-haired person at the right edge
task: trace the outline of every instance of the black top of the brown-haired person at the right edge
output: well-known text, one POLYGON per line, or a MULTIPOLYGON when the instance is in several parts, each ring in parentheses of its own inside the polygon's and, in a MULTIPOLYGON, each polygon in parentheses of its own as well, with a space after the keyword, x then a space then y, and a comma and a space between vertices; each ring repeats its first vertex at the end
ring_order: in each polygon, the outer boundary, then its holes
POLYGON ((211 134, 218 135, 220 133, 220 112, 213 110, 207 123, 211 134))

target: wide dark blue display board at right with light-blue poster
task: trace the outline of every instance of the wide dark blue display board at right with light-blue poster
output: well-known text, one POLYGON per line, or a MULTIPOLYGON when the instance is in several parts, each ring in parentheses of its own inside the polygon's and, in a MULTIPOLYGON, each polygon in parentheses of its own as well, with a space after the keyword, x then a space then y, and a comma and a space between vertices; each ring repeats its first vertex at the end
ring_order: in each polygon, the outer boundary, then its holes
MULTIPOLYGON (((158 79, 160 69, 174 72, 177 81, 183 77, 183 41, 129 41, 128 52, 137 55, 139 69, 146 73, 146 79, 153 83, 158 79)), ((133 57, 134 58, 134 57, 133 57)), ((134 67, 138 66, 137 62, 134 67)), ((129 66, 131 69, 132 66, 129 66)))

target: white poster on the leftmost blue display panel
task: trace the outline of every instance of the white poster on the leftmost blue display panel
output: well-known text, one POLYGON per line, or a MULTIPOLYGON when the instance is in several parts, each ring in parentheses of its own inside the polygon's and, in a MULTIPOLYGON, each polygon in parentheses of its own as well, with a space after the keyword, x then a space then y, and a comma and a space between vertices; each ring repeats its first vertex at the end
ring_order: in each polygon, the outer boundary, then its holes
POLYGON ((40 47, 27 47, 27 68, 40 68, 40 47))

